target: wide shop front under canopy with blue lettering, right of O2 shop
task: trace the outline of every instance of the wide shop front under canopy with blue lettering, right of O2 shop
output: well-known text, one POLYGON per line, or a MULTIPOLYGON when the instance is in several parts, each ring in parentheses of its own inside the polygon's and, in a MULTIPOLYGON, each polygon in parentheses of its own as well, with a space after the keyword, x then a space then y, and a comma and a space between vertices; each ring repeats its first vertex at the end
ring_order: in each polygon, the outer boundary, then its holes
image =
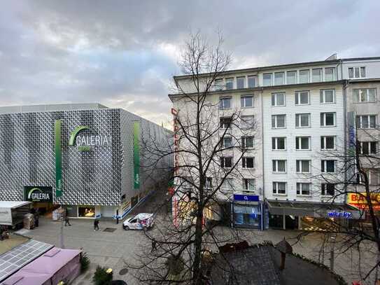
POLYGON ((269 227, 283 230, 325 231, 360 218, 360 209, 349 204, 266 201, 269 227))

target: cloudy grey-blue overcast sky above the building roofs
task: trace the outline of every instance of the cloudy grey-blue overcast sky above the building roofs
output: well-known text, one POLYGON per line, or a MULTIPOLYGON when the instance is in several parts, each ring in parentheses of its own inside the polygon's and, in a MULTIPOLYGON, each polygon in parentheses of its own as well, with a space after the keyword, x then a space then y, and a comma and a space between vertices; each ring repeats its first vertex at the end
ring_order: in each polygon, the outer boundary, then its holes
POLYGON ((0 0, 0 105, 99 102, 169 120, 189 32, 220 29, 231 69, 380 55, 380 1, 0 0))

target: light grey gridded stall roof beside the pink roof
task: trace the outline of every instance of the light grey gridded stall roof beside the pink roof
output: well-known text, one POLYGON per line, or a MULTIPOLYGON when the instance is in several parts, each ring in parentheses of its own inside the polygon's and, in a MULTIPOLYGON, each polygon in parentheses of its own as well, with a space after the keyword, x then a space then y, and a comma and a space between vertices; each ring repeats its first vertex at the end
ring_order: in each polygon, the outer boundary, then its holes
POLYGON ((41 256, 43 253, 53 247, 52 244, 38 242, 30 239, 14 249, 10 249, 6 253, 0 255, 0 281, 6 279, 17 270, 20 270, 24 265, 27 265, 34 259, 41 256))

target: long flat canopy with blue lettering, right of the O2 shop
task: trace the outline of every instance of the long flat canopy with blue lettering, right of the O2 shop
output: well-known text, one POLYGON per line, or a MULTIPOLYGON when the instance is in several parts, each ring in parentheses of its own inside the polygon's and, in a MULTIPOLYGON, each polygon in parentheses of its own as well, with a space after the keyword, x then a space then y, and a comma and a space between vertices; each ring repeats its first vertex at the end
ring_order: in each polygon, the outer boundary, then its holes
POLYGON ((360 209, 349 204, 265 201, 273 215, 313 216, 316 218, 363 218, 360 209))

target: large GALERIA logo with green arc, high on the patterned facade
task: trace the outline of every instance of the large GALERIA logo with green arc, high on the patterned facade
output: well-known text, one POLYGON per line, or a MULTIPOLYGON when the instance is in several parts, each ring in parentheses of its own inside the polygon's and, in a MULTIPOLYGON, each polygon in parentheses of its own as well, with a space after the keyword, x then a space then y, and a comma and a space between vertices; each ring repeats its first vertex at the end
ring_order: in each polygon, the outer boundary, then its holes
POLYGON ((87 125, 80 125, 70 134, 69 146, 78 146, 78 151, 91 151, 94 146, 109 146, 111 138, 98 134, 84 134, 81 132, 91 130, 87 125))

